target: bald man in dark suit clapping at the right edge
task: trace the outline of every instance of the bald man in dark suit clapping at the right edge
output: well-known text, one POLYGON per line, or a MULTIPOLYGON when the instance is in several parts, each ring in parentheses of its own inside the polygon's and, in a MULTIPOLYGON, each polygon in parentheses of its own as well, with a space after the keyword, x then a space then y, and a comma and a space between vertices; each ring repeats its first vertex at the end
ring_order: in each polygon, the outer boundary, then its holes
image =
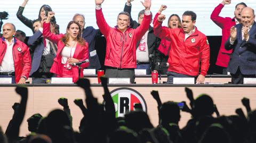
POLYGON ((244 78, 255 78, 256 74, 256 24, 251 7, 242 11, 242 23, 233 26, 225 48, 233 49, 228 63, 228 72, 233 84, 242 84, 244 78))

